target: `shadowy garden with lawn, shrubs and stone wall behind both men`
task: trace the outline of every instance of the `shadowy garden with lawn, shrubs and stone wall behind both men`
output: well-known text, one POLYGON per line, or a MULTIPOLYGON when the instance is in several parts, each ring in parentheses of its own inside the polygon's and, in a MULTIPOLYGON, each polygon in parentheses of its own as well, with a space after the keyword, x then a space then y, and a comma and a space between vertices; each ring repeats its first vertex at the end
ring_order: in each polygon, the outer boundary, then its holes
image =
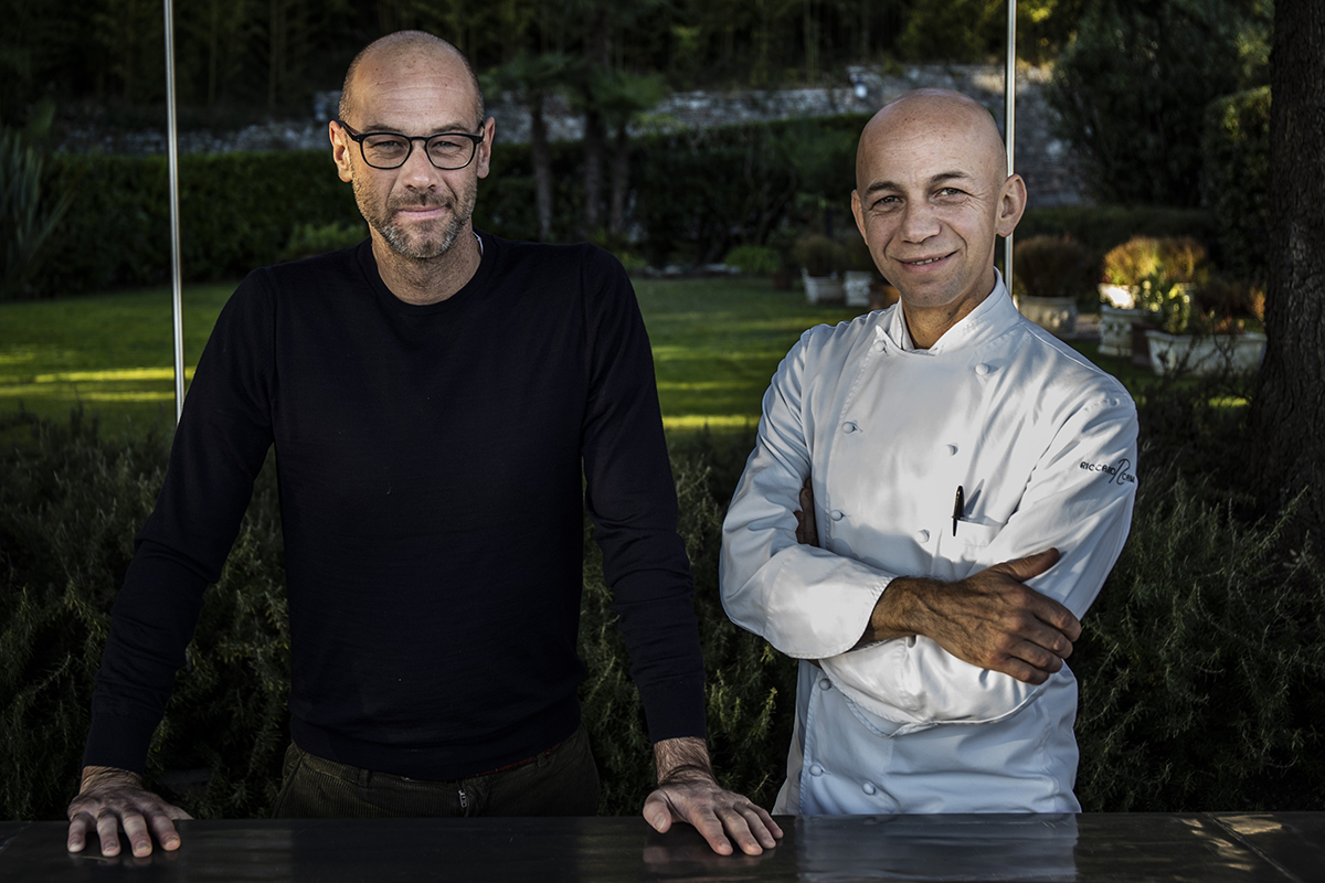
MULTIPOLYGON (((174 425, 164 34, 152 0, 0 4, 0 815, 61 818, 107 612, 174 425)), ((1284 478, 1300 475, 1296 459, 1265 471, 1287 462, 1265 425, 1306 457, 1325 450, 1318 432, 1264 412, 1281 384, 1257 375, 1267 336, 1268 353, 1289 339, 1275 316, 1320 340, 1325 297, 1320 270, 1300 289, 1310 274, 1288 274, 1276 250, 1298 210, 1272 187, 1287 136, 1272 135, 1271 48, 1288 8, 1305 3, 1018 5, 1031 209, 1014 293, 1122 379, 1142 420, 1132 539, 1072 659, 1088 810, 1325 809, 1321 490, 1284 478)), ((635 279, 696 572, 716 763, 770 805, 794 663, 722 614, 722 512, 787 348, 896 297, 851 220, 861 126, 924 85, 973 94, 1002 124, 1004 4, 180 4, 188 365, 248 270, 366 236, 326 119, 354 53, 407 26, 470 56, 498 119, 476 225, 595 241, 635 279)), ((1318 102, 1325 45, 1314 53, 1293 70, 1318 102)), ((1314 183, 1293 180, 1318 192, 1314 150, 1314 183)), ((1321 355, 1295 346, 1285 357, 1316 372, 1295 383, 1325 380, 1321 355)), ((200 817, 266 814, 288 739, 273 470, 152 748, 152 781, 200 817)), ((587 527, 584 548, 602 810, 632 813, 651 781, 641 711, 587 527)))

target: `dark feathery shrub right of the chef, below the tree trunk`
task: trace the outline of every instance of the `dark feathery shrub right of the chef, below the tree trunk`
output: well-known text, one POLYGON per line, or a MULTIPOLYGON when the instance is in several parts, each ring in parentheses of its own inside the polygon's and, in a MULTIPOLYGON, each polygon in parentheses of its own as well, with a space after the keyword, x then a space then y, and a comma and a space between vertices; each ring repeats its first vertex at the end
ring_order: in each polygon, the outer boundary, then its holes
MULTIPOLYGON (((1142 454, 1142 463, 1145 463, 1142 454)), ((1325 809, 1325 575, 1173 469, 1072 657, 1088 812, 1325 809)))

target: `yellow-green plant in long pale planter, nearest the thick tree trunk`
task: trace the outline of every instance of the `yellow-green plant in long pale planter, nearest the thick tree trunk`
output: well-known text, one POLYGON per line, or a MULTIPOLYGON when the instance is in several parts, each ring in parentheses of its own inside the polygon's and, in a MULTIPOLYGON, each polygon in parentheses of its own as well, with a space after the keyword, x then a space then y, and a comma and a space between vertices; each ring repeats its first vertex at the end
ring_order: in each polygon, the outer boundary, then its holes
POLYGON ((1158 328, 1146 331, 1150 368, 1157 375, 1255 371, 1265 335, 1248 326, 1264 318, 1265 295, 1256 289, 1214 279, 1199 285, 1146 287, 1143 307, 1158 328))

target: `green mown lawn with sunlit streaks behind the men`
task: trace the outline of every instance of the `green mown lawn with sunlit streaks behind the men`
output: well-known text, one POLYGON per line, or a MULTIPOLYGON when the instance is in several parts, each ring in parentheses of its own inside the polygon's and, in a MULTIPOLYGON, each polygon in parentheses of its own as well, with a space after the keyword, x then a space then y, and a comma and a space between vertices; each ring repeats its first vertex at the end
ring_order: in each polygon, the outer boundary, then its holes
MULTIPOLYGON (((738 429, 759 417, 778 361, 812 324, 853 308, 811 306, 803 293, 774 291, 767 279, 636 281, 657 365, 669 429, 738 429)), ((192 376, 233 285, 184 289, 184 357, 192 376)), ((64 418, 77 402, 99 413, 110 433, 140 432, 174 417, 170 289, 56 301, 0 303, 0 412, 23 408, 64 418)), ((1133 392, 1149 372, 1102 359, 1096 344, 1073 344, 1122 377, 1133 392)))

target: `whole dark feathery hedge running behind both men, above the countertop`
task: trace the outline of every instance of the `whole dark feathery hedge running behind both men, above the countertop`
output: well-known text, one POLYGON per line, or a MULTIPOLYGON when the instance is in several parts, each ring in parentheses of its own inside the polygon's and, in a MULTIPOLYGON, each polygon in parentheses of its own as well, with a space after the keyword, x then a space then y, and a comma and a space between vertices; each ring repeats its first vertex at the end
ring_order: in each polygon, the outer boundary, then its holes
MULTIPOLYGON (((1325 809, 1325 573, 1240 499, 1242 410, 1211 388, 1142 398, 1132 539, 1072 667, 1081 682, 1077 790, 1088 810, 1325 809)), ((1236 392, 1236 391, 1235 391, 1236 392)), ((106 441, 76 414, 30 416, 0 453, 0 818, 62 818, 77 788, 107 610, 166 463, 163 436, 106 441)), ((733 626, 717 597, 725 500, 750 433, 672 450, 680 531, 696 573, 718 774, 765 806, 791 736, 795 665, 733 626)), ((262 817, 286 739, 289 634, 280 515, 265 470, 152 744, 148 776, 193 815, 262 817), (205 769, 196 790, 167 770, 205 769)), ((584 719, 600 812, 633 814, 652 788, 639 696, 586 527, 584 719)))

